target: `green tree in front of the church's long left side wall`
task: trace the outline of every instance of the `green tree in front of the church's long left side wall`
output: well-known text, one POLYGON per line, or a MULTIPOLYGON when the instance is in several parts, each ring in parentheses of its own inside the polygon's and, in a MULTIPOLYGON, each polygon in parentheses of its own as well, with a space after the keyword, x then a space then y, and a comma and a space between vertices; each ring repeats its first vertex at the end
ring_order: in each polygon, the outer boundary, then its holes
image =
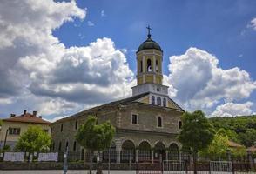
MULTIPOLYGON (((89 116, 86 122, 79 127, 76 139, 90 154, 94 151, 98 151, 99 153, 99 151, 103 151, 111 146, 114 134, 115 128, 111 125, 110 121, 98 124, 97 117, 89 116)), ((90 161, 91 160, 92 158, 90 157, 90 161)), ((98 169, 98 173, 101 172, 102 171, 98 169)))

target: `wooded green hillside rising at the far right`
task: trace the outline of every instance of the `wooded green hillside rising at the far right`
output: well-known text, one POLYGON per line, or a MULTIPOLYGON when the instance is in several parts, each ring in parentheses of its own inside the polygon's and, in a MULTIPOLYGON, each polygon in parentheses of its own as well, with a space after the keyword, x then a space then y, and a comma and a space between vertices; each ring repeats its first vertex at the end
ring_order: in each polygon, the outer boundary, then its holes
POLYGON ((216 131, 225 133, 228 138, 246 147, 256 142, 256 116, 211 117, 210 122, 216 131))

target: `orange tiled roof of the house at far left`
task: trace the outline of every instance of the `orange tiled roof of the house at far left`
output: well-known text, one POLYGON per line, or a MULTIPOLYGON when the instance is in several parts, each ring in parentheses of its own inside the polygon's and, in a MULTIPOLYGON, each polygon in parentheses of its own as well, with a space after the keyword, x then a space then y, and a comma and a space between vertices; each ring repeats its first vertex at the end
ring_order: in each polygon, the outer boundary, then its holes
POLYGON ((30 113, 25 113, 21 116, 5 118, 5 119, 3 119, 3 121, 23 122, 23 123, 33 123, 33 124, 51 124, 51 122, 48 122, 40 117, 30 114, 30 113))

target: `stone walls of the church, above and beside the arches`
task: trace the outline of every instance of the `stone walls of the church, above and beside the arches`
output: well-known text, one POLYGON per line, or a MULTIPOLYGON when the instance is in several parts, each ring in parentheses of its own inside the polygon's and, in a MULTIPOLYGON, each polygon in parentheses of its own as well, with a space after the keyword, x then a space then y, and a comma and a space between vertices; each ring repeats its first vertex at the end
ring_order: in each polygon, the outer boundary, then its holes
MULTIPOLYGON (((75 135, 78 130, 78 128, 76 129, 76 122, 78 126, 84 124, 89 115, 97 116, 99 124, 110 120, 117 130, 130 130, 128 132, 117 131, 114 141, 119 142, 119 148, 128 139, 133 141, 136 146, 143 140, 149 141, 152 148, 158 141, 165 144, 166 148, 172 143, 180 146, 176 139, 179 134, 179 121, 182 114, 179 110, 132 103, 120 107, 108 107, 91 113, 84 112, 76 117, 67 117, 52 124, 51 137, 55 145, 54 151, 58 151, 59 142, 61 142, 61 151, 65 151, 66 142, 68 142, 69 151, 73 151, 73 144, 76 141, 75 135), (138 124, 131 124, 132 114, 138 115, 138 124), (162 127, 157 125, 158 117, 162 118, 162 127), (62 125, 63 131, 61 131, 62 125)), ((82 150, 78 143, 76 146, 76 151, 82 150)))

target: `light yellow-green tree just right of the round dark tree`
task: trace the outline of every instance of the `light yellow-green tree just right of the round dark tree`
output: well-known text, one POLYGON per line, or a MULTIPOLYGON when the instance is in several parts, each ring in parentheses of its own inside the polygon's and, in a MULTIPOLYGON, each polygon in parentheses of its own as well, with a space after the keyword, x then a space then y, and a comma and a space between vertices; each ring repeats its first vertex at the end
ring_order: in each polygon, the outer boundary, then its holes
POLYGON ((228 149, 228 137, 221 131, 215 134, 212 143, 199 154, 204 157, 226 157, 228 149))

